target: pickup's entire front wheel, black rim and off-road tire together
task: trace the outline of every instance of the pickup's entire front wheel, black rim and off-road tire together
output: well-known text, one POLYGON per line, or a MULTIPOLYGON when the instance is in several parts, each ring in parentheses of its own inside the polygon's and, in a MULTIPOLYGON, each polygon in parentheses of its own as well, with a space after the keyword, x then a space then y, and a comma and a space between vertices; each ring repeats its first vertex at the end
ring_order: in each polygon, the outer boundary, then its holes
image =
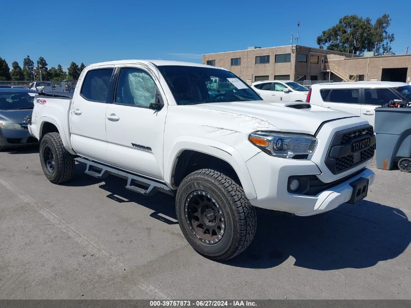
POLYGON ((243 188, 225 174, 201 169, 179 185, 176 211, 189 244, 210 259, 228 260, 254 238, 256 213, 243 188))

